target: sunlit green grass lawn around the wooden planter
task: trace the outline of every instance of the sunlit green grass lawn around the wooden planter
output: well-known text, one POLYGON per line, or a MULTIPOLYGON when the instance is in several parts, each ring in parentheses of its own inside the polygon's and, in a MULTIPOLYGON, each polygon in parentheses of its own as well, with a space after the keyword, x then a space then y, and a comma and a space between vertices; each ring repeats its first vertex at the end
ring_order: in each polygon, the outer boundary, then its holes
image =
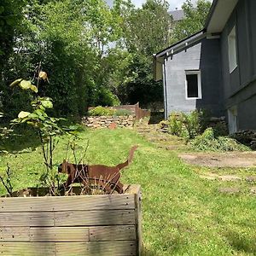
MULTIPOLYGON (((201 173, 219 173, 219 169, 185 165, 176 152, 156 148, 135 131, 84 131, 80 134, 80 155, 87 139, 90 147, 84 162, 90 164, 116 165, 127 158, 132 145, 139 144, 121 180, 142 185, 146 255, 256 254, 256 197, 249 193, 252 184, 202 179, 201 173), (222 187, 237 186, 242 188, 237 195, 218 192, 222 187)), ((58 163, 65 158, 65 143, 67 139, 61 140, 55 151, 58 163)), ((19 179, 15 189, 37 183, 37 173, 44 167, 40 148, 0 157, 0 166, 9 162, 19 179)), ((247 172, 255 173, 254 169, 230 170, 237 175, 247 172)))

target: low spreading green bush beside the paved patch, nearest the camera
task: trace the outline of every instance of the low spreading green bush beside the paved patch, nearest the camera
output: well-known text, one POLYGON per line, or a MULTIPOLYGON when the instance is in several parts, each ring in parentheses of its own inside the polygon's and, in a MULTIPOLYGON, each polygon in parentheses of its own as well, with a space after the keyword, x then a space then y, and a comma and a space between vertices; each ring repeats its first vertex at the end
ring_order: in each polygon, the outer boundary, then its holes
POLYGON ((212 128, 207 128, 202 135, 195 137, 191 141, 191 145, 200 151, 226 152, 250 150, 250 148, 247 148, 230 137, 215 137, 212 128))

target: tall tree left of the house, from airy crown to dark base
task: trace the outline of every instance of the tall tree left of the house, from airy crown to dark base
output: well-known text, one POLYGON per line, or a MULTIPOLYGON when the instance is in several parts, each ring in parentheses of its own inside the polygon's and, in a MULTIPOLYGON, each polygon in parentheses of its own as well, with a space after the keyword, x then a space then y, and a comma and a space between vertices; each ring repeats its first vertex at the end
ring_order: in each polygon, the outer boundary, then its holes
POLYGON ((129 9, 124 16, 124 44, 127 49, 123 80, 118 87, 121 102, 140 102, 147 107, 162 101, 162 87, 154 82, 152 55, 172 44, 172 17, 168 3, 148 0, 142 9, 129 9))

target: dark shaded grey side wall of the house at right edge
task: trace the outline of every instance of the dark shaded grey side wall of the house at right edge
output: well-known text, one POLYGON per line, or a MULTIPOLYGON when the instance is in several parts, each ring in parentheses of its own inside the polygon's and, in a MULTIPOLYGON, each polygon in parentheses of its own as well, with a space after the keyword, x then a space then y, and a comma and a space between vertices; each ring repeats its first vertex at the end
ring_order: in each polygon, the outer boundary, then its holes
POLYGON ((256 130, 256 1, 237 3, 221 35, 224 109, 237 106, 238 130, 256 130), (237 67, 229 71, 228 35, 236 25, 237 67))

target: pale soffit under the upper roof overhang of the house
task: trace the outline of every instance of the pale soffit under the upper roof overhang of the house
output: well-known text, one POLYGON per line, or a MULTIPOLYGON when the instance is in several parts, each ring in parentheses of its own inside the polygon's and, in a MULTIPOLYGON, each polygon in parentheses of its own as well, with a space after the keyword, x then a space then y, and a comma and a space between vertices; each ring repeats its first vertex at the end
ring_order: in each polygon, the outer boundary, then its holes
POLYGON ((238 0, 218 0, 207 26, 207 32, 222 32, 226 22, 236 7, 238 0))

